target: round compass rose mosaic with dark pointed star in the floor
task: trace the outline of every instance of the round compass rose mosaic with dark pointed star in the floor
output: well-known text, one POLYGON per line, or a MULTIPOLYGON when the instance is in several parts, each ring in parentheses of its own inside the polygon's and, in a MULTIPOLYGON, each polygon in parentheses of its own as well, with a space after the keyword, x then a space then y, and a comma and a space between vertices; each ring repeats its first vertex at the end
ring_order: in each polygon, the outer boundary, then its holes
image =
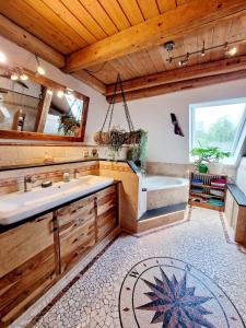
POLYGON ((243 328, 239 313, 208 276, 169 257, 137 263, 119 296, 124 328, 243 328))

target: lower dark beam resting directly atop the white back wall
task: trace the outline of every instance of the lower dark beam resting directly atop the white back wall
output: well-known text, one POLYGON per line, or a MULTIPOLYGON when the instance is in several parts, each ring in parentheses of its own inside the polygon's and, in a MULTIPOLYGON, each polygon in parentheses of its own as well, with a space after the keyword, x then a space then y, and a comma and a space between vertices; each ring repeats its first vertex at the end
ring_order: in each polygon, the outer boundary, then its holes
MULTIPOLYGON (((152 87, 145 87, 142 90, 136 90, 126 92, 126 99, 134 101, 145 97, 152 97, 156 95, 173 93, 177 91, 184 91, 187 89, 196 89, 196 87, 202 87, 211 84, 219 84, 219 83, 225 83, 234 80, 239 79, 246 79, 246 70, 242 70, 238 72, 231 72, 231 73, 224 73, 219 75, 212 75, 212 77, 203 77, 203 78, 197 78, 197 79, 190 79, 186 81, 175 82, 175 83, 167 83, 162 84, 157 86, 152 87)), ((107 102, 110 103, 112 96, 107 96, 107 102)), ((116 103, 122 102, 122 97, 120 94, 116 95, 116 103)))

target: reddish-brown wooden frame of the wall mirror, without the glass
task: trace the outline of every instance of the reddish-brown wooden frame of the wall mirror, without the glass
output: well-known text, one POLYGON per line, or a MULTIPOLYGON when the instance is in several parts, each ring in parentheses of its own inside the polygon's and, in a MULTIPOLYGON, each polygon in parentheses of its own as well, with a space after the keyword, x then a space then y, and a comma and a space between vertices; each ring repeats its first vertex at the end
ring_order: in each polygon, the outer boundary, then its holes
MULTIPOLYGON (((7 69, 1 65, 1 69, 7 69)), ((59 84, 44 75, 37 75, 35 72, 22 68, 23 73, 25 73, 31 81, 42 84, 46 87, 50 87, 54 90, 66 90, 67 86, 59 84)), ((0 129, 0 139, 16 139, 16 140, 39 140, 39 141, 62 141, 62 142, 83 142, 85 126, 87 120, 87 112, 89 112, 89 103, 90 97, 73 91, 73 94, 77 98, 83 101, 83 112, 81 118, 81 131, 80 137, 72 136, 60 136, 60 134, 49 134, 49 133, 40 133, 40 132, 30 132, 30 131, 15 131, 15 130, 1 130, 0 129)))

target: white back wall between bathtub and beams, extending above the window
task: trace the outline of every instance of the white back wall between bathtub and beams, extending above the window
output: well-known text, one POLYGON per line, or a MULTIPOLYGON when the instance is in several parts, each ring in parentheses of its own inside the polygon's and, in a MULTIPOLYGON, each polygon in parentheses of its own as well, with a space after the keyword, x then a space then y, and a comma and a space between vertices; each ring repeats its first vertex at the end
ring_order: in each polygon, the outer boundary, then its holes
MULTIPOLYGON (((160 95, 128 103, 136 128, 149 131, 148 161, 189 162, 189 105, 245 97, 246 80, 160 95), (176 114, 185 137, 174 134, 169 114, 176 114)), ((114 124, 125 121, 122 105, 115 107, 114 124)), ((126 126, 125 126, 126 127, 126 126)), ((246 151, 246 144, 245 144, 246 151)))

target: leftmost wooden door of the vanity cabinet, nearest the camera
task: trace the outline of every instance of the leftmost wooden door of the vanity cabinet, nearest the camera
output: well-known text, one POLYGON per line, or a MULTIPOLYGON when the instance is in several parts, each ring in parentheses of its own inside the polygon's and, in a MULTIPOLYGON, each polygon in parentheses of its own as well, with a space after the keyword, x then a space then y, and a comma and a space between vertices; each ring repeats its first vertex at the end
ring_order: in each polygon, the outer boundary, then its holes
POLYGON ((56 278, 52 213, 0 235, 0 326, 7 326, 56 278))

